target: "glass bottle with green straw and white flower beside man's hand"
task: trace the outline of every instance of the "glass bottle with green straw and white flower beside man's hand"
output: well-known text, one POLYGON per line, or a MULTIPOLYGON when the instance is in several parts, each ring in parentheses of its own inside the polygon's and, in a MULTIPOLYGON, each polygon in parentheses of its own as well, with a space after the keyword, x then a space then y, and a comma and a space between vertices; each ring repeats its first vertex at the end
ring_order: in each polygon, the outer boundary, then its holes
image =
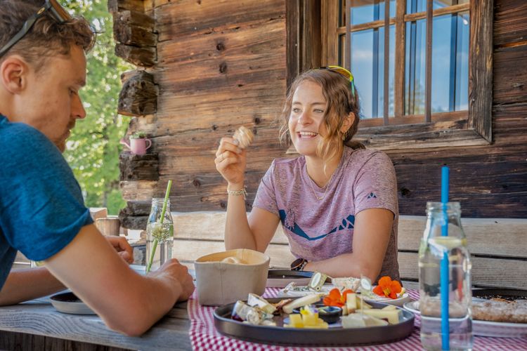
POLYGON ((164 199, 152 199, 152 208, 146 225, 146 272, 157 270, 172 258, 174 245, 174 221, 170 214, 170 200, 167 199, 163 220, 161 220, 164 199))

